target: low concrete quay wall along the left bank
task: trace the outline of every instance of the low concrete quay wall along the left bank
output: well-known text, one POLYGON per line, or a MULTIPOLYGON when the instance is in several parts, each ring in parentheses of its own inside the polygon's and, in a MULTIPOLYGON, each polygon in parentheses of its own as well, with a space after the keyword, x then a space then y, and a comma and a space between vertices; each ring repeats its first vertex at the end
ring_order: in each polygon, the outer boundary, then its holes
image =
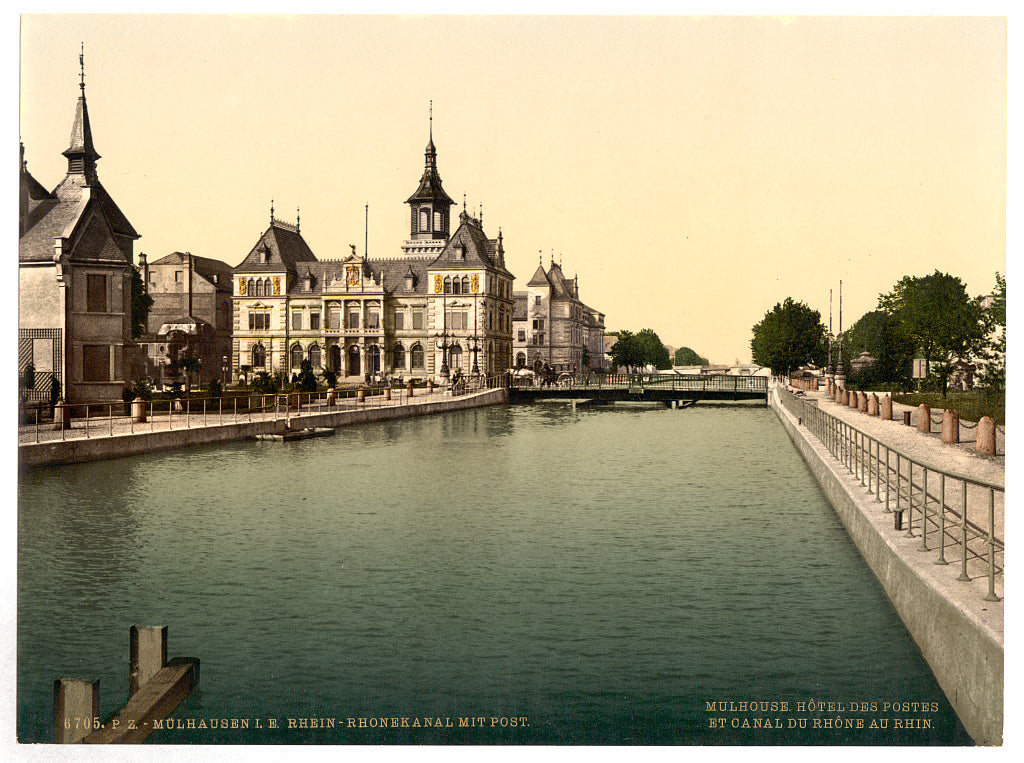
POLYGON ((467 408, 494 406, 508 400, 507 389, 488 389, 459 397, 424 398, 401 406, 364 408, 344 411, 317 413, 293 413, 290 422, 284 418, 269 421, 239 422, 215 426, 195 426, 190 428, 115 433, 113 435, 32 442, 18 446, 18 462, 23 467, 74 464, 83 461, 137 456, 143 453, 173 451, 196 446, 230 442, 248 439, 257 434, 282 434, 289 429, 306 427, 339 427, 364 424, 387 419, 411 416, 426 416, 445 411, 460 411, 467 408))

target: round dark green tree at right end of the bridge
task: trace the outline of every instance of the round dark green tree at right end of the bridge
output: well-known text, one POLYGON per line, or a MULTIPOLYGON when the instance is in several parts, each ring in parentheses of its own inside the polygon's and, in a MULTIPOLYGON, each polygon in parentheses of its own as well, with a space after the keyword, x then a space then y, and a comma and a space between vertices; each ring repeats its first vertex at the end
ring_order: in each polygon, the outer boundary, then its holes
POLYGON ((753 328, 751 354, 754 362, 767 366, 776 376, 787 375, 801 366, 824 364, 828 346, 821 315, 803 302, 786 297, 753 328))

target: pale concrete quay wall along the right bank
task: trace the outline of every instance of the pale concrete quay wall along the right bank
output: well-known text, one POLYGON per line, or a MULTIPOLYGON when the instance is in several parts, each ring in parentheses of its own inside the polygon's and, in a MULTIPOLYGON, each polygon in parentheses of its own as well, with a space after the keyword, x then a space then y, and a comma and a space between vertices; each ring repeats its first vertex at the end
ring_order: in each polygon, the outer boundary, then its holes
POLYGON ((892 514, 880 512, 873 498, 774 393, 769 405, 882 584, 967 732, 978 745, 1001 745, 1004 644, 1001 634, 993 634, 984 625, 985 607, 991 606, 982 600, 984 591, 970 584, 946 586, 937 581, 935 570, 944 567, 936 567, 930 555, 919 555, 919 539, 884 533, 892 524, 892 514))

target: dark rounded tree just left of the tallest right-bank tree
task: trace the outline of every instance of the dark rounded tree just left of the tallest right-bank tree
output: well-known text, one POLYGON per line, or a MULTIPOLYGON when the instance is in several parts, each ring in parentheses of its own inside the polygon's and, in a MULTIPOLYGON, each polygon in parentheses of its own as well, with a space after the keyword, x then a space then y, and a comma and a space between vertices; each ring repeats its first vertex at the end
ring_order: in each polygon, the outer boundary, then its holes
MULTIPOLYGON (((844 374, 852 377, 850 361, 867 352, 874 364, 856 375, 857 385, 892 382, 909 386, 914 342, 903 331, 900 322, 884 310, 865 312, 843 332, 844 374), (861 378, 863 377, 863 378, 861 378)), ((833 349, 835 358, 836 350, 833 349)))

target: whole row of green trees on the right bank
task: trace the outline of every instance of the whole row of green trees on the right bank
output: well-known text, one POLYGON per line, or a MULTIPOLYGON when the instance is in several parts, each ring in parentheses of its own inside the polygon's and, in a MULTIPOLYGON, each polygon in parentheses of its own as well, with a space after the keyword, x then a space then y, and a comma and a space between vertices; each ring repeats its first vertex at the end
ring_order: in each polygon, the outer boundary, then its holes
MULTIPOLYGON (((1007 281, 1000 273, 995 273, 989 305, 968 296, 964 283, 948 273, 906 275, 880 294, 878 309, 862 315, 836 338, 834 346, 842 342, 845 375, 861 387, 890 383, 909 388, 913 358, 921 356, 943 394, 956 362, 969 358, 980 362, 981 384, 1001 390, 1006 305, 1007 281), (853 376, 850 361, 862 352, 874 363, 853 376)), ((820 368, 827 363, 828 335, 820 314, 793 298, 765 313, 753 333, 754 361, 773 374, 788 375, 808 364, 820 368)))

